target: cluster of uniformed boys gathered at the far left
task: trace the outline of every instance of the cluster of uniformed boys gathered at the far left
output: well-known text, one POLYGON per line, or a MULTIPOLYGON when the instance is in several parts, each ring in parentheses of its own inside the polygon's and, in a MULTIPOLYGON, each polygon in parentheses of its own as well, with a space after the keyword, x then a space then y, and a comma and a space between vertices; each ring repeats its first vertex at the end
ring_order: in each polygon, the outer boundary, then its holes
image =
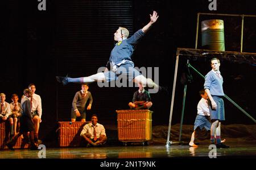
MULTIPOLYGON (((14 150, 13 146, 19 136, 23 138, 24 142, 30 144, 32 150, 37 149, 38 143, 40 143, 38 132, 40 122, 42 122, 42 102, 41 97, 35 94, 35 90, 34 84, 28 85, 28 89, 23 90, 20 103, 17 94, 13 94, 11 96, 13 102, 8 103, 6 102, 6 95, 0 93, 0 122, 6 122, 10 125, 5 140, 10 139, 6 146, 11 150, 14 150)), ((4 146, 5 144, 2 147, 4 146)))

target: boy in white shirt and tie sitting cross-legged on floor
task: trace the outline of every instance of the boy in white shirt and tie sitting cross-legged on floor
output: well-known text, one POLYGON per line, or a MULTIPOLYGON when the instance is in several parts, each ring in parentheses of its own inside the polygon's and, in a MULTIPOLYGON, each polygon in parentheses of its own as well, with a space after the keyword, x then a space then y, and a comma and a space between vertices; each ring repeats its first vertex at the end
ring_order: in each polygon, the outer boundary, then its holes
POLYGON ((105 128, 100 123, 97 123, 98 116, 96 114, 92 115, 91 121, 92 123, 88 123, 84 126, 80 136, 88 143, 87 147, 102 146, 107 140, 105 128))

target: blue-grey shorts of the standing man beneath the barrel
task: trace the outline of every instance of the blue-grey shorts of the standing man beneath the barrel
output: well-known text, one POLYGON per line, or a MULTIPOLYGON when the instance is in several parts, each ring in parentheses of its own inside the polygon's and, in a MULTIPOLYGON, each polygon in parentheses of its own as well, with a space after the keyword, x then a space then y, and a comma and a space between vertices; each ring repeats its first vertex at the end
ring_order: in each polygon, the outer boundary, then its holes
POLYGON ((210 110, 210 119, 211 120, 220 120, 225 121, 225 110, 224 110, 224 101, 221 97, 212 96, 214 101, 217 104, 217 109, 213 110, 212 106, 209 106, 210 110))

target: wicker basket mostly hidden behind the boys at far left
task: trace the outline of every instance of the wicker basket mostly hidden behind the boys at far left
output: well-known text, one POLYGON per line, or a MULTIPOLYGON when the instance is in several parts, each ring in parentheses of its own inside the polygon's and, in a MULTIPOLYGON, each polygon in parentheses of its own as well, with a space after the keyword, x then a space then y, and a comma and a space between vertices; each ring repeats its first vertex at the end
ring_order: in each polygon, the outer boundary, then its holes
MULTIPOLYGON (((9 129, 6 129, 9 126, 9 123, 2 122, 0 123, 0 147, 7 149, 7 146, 5 146, 5 143, 9 141, 9 138, 6 136, 6 132, 9 131, 9 129)), ((22 138, 19 137, 15 146, 13 148, 28 148, 28 144, 24 143, 22 141, 22 138)))

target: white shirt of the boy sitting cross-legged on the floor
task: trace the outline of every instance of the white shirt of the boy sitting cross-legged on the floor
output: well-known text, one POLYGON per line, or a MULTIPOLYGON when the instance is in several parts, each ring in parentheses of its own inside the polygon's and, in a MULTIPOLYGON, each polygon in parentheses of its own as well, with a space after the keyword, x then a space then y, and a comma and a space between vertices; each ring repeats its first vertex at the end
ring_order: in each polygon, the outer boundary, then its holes
MULTIPOLYGON (((97 138, 100 138, 100 135, 105 135, 106 136, 105 128, 100 123, 96 124, 96 128, 95 129, 96 129, 96 136, 97 136, 97 138)), ((88 123, 88 124, 86 124, 84 126, 84 128, 81 131, 80 136, 82 136, 82 135, 84 135, 86 133, 89 133, 89 134, 92 135, 92 136, 90 136, 91 139, 94 138, 94 127, 93 127, 92 123, 88 123)))

